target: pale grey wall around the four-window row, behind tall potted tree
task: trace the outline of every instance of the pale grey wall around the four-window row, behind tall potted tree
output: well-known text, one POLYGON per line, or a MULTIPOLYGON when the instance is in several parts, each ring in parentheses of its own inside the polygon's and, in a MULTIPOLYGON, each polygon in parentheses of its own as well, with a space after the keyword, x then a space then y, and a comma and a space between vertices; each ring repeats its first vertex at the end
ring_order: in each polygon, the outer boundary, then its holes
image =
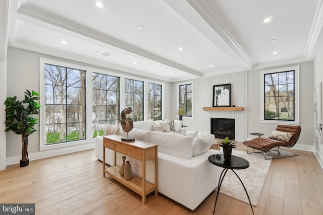
MULTIPOLYGON (((7 58, 7 96, 17 96, 17 100, 23 100, 24 93, 26 89, 34 90, 36 92, 40 91, 40 80, 39 80, 39 58, 49 58, 59 61, 64 61, 68 63, 85 65, 92 68, 105 69, 95 65, 89 65, 81 62, 75 62, 72 60, 61 59, 58 57, 52 57, 36 52, 26 51, 17 48, 9 48, 8 49, 8 58, 7 58)), ((1 68, 0 68, 1 71, 1 68)), ((114 70, 115 71, 115 70, 114 70)), ((127 74, 120 71, 120 74, 127 74)), ((131 76, 135 76, 133 74, 128 74, 131 76)), ((138 76, 135 76, 138 77, 138 76)), ((145 78, 147 79, 147 78, 145 78)), ((156 80, 159 81, 159 80, 156 80)), ((159 81, 160 82, 160 81, 159 81)), ((3 86, 3 85, 2 85, 3 86)), ((171 98, 171 90, 172 84, 165 82, 164 96, 165 98, 171 98)), ((3 99, 4 101, 4 99, 3 99)), ((167 103, 167 99, 165 101, 165 116, 169 116, 170 114, 170 105, 167 103)), ((4 120, 2 120, 4 121, 4 120)), ((1 125, 2 126, 2 125, 1 125)), ((40 135, 39 135, 39 124, 35 127, 38 131, 30 135, 29 137, 29 146, 28 153, 30 160, 66 154, 67 150, 62 149, 53 149, 46 151, 39 151, 40 145, 40 135)), ((4 129, 2 129, 4 130, 4 129)), ((7 165, 18 163, 21 159, 21 138, 19 135, 14 132, 6 133, 7 141, 6 142, 6 162, 7 165)), ((68 147, 71 149, 71 152, 86 150, 94 148, 94 139, 93 142, 89 144, 77 145, 73 147, 68 147)))

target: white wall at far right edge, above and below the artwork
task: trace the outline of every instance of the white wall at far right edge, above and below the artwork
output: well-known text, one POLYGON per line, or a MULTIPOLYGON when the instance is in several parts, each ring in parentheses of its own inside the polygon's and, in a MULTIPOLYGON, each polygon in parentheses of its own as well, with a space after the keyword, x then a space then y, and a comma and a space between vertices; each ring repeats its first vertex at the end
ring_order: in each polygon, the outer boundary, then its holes
MULTIPOLYGON (((323 35, 321 35, 323 38, 323 35)), ((313 86, 318 87, 320 82, 323 82, 323 46, 320 45, 318 48, 318 52, 316 54, 316 57, 314 59, 314 83, 313 86)), ((322 98, 323 99, 323 98, 322 98)), ((318 143, 313 137, 314 141, 314 153, 321 163, 321 166, 323 166, 323 145, 318 143)))

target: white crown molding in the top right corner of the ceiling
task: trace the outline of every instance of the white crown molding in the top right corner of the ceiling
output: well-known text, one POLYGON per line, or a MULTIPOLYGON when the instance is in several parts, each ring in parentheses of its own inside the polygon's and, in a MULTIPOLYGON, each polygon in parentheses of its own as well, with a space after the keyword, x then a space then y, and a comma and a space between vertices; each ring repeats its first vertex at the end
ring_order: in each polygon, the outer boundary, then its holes
POLYGON ((323 27, 323 1, 318 0, 311 31, 306 45, 306 50, 304 53, 304 56, 306 57, 307 60, 310 60, 314 57, 313 52, 314 52, 319 34, 322 30, 322 27, 323 27))

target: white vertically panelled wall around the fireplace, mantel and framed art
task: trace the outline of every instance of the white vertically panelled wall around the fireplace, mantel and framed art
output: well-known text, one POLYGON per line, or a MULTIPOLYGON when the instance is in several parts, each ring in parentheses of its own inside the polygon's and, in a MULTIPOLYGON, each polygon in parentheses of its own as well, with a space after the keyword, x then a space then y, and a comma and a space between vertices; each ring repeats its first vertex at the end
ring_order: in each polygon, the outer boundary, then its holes
MULTIPOLYGON (((221 76, 204 77, 194 81, 194 119, 183 119, 187 130, 210 133, 210 118, 234 118, 235 139, 243 141, 247 132, 247 111, 203 111, 203 107, 212 107, 213 85, 231 84, 231 105, 247 107, 247 72, 231 73, 221 76)), ((173 111, 176 111, 176 84, 173 83, 173 111)), ((176 118, 174 114, 173 118, 176 118)))

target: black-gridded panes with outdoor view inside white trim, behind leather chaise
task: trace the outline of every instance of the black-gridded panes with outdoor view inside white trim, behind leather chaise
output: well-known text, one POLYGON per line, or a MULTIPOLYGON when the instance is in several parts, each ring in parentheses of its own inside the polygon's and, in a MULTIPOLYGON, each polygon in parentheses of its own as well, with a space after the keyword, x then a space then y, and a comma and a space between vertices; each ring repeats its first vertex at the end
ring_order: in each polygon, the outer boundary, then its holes
POLYGON ((264 74, 264 119, 294 121, 294 70, 264 74))

